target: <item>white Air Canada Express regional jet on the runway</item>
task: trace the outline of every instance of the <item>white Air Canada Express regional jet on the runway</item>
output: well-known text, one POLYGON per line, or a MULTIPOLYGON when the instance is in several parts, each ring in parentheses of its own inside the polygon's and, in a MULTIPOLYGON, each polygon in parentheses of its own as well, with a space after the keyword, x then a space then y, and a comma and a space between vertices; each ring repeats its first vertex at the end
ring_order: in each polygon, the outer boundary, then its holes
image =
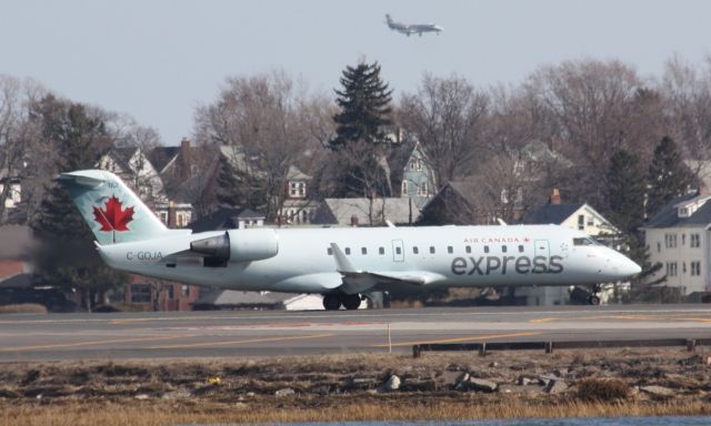
POLYGON ((167 229, 107 171, 63 173, 59 181, 112 267, 220 288, 319 293, 327 310, 353 310, 361 295, 395 287, 594 286, 640 272, 635 263, 583 232, 557 225, 193 234, 167 229))

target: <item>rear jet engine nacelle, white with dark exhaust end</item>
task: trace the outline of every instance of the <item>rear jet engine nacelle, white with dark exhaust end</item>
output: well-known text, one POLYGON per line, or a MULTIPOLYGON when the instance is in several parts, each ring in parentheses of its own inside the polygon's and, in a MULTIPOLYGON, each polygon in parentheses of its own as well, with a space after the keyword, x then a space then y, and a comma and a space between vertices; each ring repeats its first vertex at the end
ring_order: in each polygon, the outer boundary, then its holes
POLYGON ((211 263, 261 261, 279 253, 279 240, 273 230, 232 230, 193 241, 190 251, 206 254, 211 263))

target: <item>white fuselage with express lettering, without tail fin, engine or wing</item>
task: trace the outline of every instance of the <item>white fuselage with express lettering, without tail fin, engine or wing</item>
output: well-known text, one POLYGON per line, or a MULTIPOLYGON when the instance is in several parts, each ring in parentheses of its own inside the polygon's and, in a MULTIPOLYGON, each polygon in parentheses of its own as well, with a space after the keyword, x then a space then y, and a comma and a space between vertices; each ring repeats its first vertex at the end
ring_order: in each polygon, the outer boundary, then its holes
MULTIPOLYGON (((133 273, 222 288, 329 293, 343 284, 336 244, 358 271, 422 277, 434 286, 573 285, 639 273, 622 254, 557 225, 274 229, 278 253, 214 266, 190 243, 224 234, 177 234, 100 246, 104 261, 133 273)), ((242 234, 240 234, 242 233, 242 234)), ((387 280, 385 280, 387 281, 387 280)))

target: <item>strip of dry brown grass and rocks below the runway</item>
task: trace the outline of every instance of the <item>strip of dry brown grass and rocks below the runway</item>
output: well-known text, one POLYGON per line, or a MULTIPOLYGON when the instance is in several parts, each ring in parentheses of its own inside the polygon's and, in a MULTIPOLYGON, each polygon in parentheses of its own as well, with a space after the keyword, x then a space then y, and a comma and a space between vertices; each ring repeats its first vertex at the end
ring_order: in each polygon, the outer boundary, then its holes
POLYGON ((13 363, 0 424, 711 415, 709 363, 679 349, 13 363))

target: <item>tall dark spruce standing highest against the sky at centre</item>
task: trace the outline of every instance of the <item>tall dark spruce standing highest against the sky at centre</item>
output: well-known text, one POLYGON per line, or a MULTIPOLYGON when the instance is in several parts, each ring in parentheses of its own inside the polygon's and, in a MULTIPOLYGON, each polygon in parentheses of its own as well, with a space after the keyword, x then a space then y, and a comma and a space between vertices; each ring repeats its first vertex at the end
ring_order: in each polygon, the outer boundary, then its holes
POLYGON ((341 77, 342 90, 337 90, 336 102, 341 112, 333 116, 337 136, 330 142, 338 150, 349 142, 387 142, 383 126, 392 124, 392 90, 380 78, 378 62, 346 67, 341 77))

